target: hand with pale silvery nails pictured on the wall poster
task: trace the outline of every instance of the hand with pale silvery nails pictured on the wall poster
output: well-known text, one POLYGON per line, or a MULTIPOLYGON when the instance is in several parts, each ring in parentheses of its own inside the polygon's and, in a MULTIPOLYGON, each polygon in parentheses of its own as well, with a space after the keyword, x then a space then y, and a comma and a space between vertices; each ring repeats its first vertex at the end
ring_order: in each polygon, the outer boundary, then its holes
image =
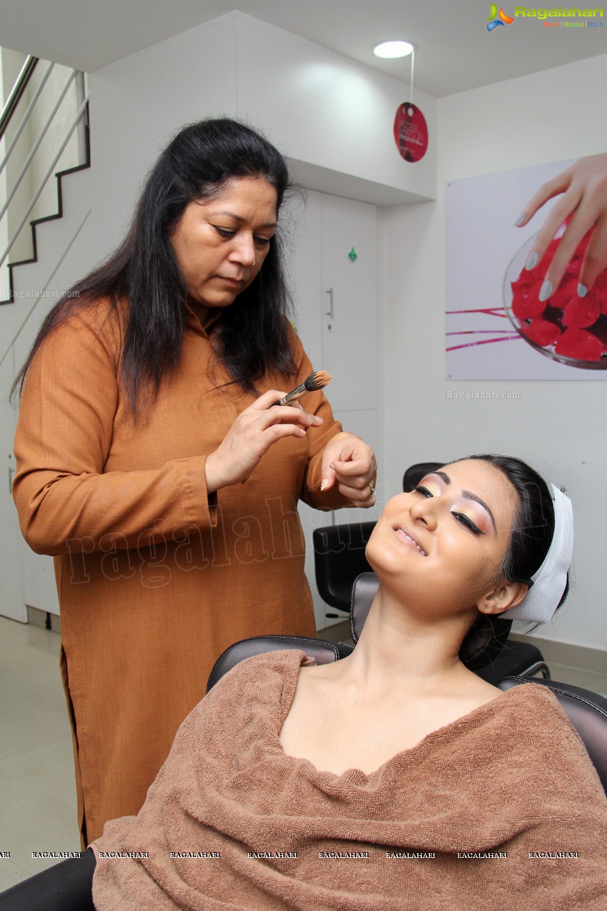
POLYGON ((578 295, 585 297, 598 275, 607 268, 607 155, 580 159, 558 177, 544 183, 522 210, 517 227, 526 225, 544 203, 560 193, 561 199, 541 226, 525 266, 533 269, 541 261, 555 233, 563 221, 569 219, 545 273, 541 301, 556 292, 575 251, 592 228, 592 237, 582 259, 578 295))

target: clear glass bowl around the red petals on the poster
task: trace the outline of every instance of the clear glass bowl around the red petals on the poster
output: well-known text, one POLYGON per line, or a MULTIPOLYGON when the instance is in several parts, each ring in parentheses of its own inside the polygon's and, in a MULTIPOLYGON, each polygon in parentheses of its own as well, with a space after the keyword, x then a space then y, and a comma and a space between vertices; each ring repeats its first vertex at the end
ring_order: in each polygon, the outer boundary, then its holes
MULTIPOLYGON (((524 268, 527 257, 529 256, 537 234, 533 234, 529 240, 525 241, 521 249, 517 251, 512 257, 508 268, 504 274, 503 281, 503 302, 504 302, 504 311, 508 316, 511 324, 516 330, 521 338, 525 342, 531 345, 531 348, 534 348, 535 351, 544 355, 544 357, 550 357, 552 361, 558 361, 559 363, 566 363, 570 367, 582 367, 584 370, 605 370, 607 369, 607 350, 604 350, 601 354, 601 359, 599 361, 584 361, 578 358, 566 357, 564 354, 557 354, 554 350, 554 344, 541 345, 536 342, 533 342, 525 333, 521 330, 524 329, 531 323, 531 320, 523 320, 518 316, 515 316, 512 312, 512 281, 517 281, 521 275, 521 271, 524 268)), ((544 259, 546 259, 547 254, 544 254, 544 259)), ((545 273, 548 269, 548 260, 546 262, 542 260, 540 263, 541 271, 545 273)), ((540 282, 541 283, 541 282, 540 282)), ((563 326, 561 322, 562 310, 558 307, 551 306, 550 299, 546 302, 546 311, 541 314, 542 320, 547 320, 547 322, 553 322, 555 325, 559 326, 561 330, 566 329, 566 326, 563 326)), ((587 327, 587 332, 596 337, 600 338, 603 342, 603 347, 607 349, 607 315, 600 314, 597 321, 592 324, 592 326, 587 327), (600 334, 597 334, 600 333, 600 334)))

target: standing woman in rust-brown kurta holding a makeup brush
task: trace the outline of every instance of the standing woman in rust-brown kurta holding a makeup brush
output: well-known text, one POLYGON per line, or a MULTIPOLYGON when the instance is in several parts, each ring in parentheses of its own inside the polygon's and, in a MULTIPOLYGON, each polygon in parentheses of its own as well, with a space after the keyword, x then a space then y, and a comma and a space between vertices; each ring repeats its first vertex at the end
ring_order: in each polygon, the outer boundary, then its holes
POLYGON ((282 156, 206 120, 151 170, 126 240, 49 313, 15 381, 14 496, 55 557, 82 844, 137 814, 231 643, 314 636, 298 499, 372 506, 375 458, 289 325, 282 156))

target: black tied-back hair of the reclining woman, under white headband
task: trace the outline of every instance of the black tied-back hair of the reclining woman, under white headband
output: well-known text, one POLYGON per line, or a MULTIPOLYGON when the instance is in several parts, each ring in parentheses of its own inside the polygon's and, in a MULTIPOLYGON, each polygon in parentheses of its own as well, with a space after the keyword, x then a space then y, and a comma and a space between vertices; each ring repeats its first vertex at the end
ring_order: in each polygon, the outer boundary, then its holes
MULTIPOLYGON (((554 506, 548 485, 534 468, 509 455, 467 455, 497 468, 511 482, 518 495, 508 549, 496 573, 496 581, 522 582, 531 589, 533 576, 541 567, 554 535, 554 506)), ((453 465, 454 463, 450 463, 453 465)), ((569 573, 558 607, 569 593, 569 573)), ((479 612, 460 648, 460 659, 472 670, 491 663, 504 648, 512 621, 479 612)))

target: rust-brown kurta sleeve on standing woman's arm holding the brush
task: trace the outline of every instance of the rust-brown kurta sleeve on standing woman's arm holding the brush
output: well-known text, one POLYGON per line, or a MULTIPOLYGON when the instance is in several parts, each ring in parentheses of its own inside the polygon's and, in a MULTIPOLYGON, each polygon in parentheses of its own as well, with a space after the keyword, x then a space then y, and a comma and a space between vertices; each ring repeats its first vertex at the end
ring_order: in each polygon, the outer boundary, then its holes
POLYGON ((27 373, 13 496, 37 553, 64 554, 74 539, 98 550, 107 533, 118 548, 145 547, 177 527, 217 524, 206 454, 157 470, 104 472, 119 404, 119 349, 116 312, 99 303, 47 336, 27 373))

